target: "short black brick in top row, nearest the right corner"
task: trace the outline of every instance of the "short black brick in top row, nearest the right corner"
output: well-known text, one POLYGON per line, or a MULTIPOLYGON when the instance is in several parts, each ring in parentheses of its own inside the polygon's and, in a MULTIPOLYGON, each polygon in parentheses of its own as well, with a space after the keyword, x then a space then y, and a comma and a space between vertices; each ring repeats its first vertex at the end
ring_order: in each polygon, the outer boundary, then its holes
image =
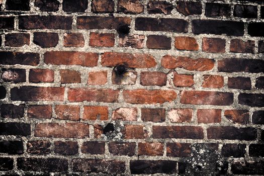
POLYGON ((235 5, 234 16, 241 18, 256 18, 257 17, 257 7, 250 5, 235 5))

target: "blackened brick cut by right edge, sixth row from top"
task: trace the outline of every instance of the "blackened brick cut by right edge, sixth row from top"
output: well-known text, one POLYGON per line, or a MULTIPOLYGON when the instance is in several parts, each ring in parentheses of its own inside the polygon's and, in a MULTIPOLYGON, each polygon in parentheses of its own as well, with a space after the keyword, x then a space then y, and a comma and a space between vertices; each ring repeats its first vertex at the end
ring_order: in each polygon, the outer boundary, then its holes
POLYGON ((264 107, 264 94, 239 94, 238 103, 251 107, 264 107))

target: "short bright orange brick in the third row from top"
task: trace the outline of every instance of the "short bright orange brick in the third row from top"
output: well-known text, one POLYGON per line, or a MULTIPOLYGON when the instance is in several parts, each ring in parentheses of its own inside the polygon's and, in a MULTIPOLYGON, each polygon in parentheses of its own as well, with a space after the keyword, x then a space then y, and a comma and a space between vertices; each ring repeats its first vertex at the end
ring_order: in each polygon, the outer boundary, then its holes
POLYGON ((194 37, 175 37, 174 46, 179 50, 199 50, 199 45, 194 37))

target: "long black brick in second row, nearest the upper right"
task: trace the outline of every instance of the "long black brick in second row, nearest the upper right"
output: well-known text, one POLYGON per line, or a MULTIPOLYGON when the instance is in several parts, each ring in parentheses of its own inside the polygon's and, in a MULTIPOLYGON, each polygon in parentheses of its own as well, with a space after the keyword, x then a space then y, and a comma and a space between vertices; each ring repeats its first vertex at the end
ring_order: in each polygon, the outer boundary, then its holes
POLYGON ((220 20, 193 20, 192 31, 194 34, 226 34, 229 36, 243 36, 244 23, 220 20))

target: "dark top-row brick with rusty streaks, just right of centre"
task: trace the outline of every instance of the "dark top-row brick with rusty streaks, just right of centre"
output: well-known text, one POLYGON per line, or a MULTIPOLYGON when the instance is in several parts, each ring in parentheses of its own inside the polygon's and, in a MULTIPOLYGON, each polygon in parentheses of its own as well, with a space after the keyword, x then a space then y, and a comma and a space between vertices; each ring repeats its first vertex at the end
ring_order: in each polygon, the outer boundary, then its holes
POLYGON ((149 1, 147 4, 148 14, 171 14, 174 9, 171 3, 166 1, 149 1))

